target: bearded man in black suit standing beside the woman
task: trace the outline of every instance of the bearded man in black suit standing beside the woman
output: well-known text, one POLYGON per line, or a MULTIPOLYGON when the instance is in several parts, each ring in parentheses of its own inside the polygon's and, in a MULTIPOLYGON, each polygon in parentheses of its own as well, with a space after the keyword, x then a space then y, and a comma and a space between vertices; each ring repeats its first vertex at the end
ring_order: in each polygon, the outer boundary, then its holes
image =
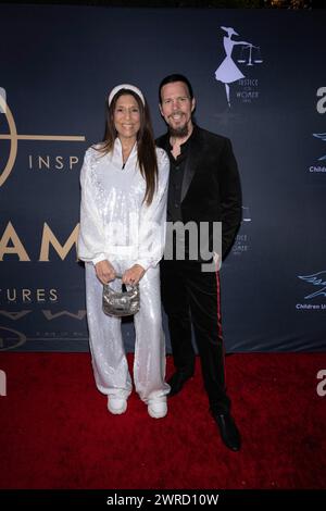
POLYGON ((192 324, 210 411, 224 444, 238 451, 240 434, 230 414, 225 386, 217 260, 221 262, 229 251, 241 222, 240 180, 230 141, 193 124, 195 107, 192 87, 185 76, 174 74, 161 82, 160 111, 168 132, 156 145, 165 149, 171 161, 167 222, 192 222, 198 229, 201 222, 206 223, 206 241, 215 261, 214 271, 202 271, 201 252, 193 259, 186 240, 184 260, 174 254, 161 262, 162 301, 176 370, 168 381, 170 396, 179 392, 193 375, 192 324), (222 222, 218 254, 212 245, 216 222, 222 222))

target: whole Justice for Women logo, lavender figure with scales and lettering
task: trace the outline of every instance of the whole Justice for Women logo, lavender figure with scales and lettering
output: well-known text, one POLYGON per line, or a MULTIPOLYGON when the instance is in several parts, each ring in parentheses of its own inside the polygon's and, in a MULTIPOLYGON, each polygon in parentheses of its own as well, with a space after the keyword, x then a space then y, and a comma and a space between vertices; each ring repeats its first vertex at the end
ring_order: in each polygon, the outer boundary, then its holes
POLYGON ((256 64, 262 64, 262 52, 259 46, 252 42, 233 39, 239 34, 233 27, 221 27, 227 35, 223 37, 223 48, 225 58, 215 71, 215 79, 224 84, 226 101, 231 107, 234 95, 230 94, 230 85, 238 85, 235 96, 243 103, 251 103, 259 98, 259 80, 252 76, 251 68, 256 64), (234 52, 235 47, 239 47, 239 52, 234 52), (233 53, 237 53, 233 57, 233 53), (250 70, 250 71, 249 71, 250 70))

